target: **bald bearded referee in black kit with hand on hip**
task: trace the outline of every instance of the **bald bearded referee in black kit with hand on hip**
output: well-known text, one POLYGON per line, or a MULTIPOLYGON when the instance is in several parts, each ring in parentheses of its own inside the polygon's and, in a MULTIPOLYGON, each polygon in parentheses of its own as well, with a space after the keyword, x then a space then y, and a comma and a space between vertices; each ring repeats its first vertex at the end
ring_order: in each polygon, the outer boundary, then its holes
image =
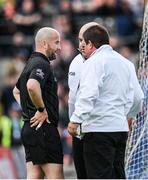
POLYGON ((60 51, 60 35, 41 28, 32 53, 13 90, 23 111, 22 141, 27 179, 62 179, 63 152, 57 130, 59 120, 57 83, 50 67, 60 51))

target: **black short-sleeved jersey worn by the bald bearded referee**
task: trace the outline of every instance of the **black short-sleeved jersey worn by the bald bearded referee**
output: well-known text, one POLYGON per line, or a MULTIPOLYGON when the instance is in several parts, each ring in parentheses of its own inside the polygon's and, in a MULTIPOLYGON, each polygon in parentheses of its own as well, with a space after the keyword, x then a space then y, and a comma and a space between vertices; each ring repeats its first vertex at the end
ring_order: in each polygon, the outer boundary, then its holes
POLYGON ((28 79, 36 79, 40 83, 49 121, 57 126, 59 119, 57 83, 50 62, 45 55, 39 52, 32 53, 16 84, 20 91, 24 121, 29 121, 37 111, 27 91, 28 79))

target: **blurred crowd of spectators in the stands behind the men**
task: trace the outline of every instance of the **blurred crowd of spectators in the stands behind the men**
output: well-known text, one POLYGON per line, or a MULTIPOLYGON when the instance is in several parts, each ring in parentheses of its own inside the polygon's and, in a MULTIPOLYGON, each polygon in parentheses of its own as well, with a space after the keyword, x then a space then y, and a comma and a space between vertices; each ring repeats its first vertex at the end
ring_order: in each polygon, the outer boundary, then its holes
POLYGON ((52 62, 58 80, 59 131, 64 163, 72 160, 71 137, 67 133, 68 68, 78 54, 79 28, 90 21, 104 25, 111 46, 131 60, 136 69, 142 31, 144 0, 0 0, 0 178, 25 178, 21 143, 21 109, 12 89, 34 50, 34 35, 44 26, 61 34, 62 51, 52 62), (11 159, 11 162, 9 162, 11 159), (7 173, 4 167, 11 167, 7 173))

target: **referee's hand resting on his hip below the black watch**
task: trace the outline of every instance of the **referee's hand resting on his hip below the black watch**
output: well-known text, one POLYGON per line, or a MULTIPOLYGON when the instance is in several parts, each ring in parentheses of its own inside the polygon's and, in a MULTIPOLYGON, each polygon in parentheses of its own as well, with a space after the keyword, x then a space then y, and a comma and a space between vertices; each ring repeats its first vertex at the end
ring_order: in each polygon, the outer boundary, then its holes
POLYGON ((31 127, 37 126, 38 124, 40 124, 41 126, 44 121, 48 121, 47 111, 46 110, 44 110, 43 112, 37 111, 30 120, 31 127))

